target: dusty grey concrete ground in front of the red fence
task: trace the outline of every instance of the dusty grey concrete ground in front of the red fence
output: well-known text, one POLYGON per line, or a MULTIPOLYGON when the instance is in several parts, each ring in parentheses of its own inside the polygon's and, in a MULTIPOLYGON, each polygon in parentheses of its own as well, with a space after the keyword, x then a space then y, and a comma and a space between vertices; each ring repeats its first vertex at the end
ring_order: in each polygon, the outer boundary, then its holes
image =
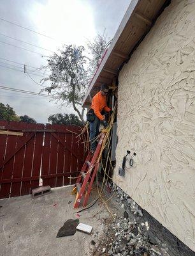
MULTIPOLYGON (((35 199, 27 195, 0 200, 0 255, 92 255, 91 241, 98 241, 111 217, 100 201, 76 216, 75 195, 71 195, 71 189, 52 189, 51 194, 35 199), (74 236, 56 238, 64 222, 76 218, 80 223, 91 225, 92 234, 76 231, 74 236)), ((94 189, 90 200, 97 196, 94 189)))

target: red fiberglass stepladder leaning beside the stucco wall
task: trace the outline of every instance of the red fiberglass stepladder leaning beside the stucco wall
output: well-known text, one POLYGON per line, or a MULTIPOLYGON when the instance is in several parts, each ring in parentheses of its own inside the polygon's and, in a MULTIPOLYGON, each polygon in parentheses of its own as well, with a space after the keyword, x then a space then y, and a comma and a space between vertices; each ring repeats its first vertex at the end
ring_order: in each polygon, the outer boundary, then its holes
POLYGON ((94 153, 89 152, 89 154, 85 160, 85 163, 83 164, 80 175, 76 179, 76 184, 72 191, 72 194, 76 193, 74 209, 79 207, 84 193, 85 193, 85 197, 83 200, 83 207, 85 207, 87 205, 90 191, 92 189, 92 184, 94 182, 94 178, 96 177, 96 173, 98 172, 99 162, 97 161, 97 159, 99 157, 101 145, 103 143, 104 138, 105 138, 105 132, 103 134, 101 134, 101 136, 99 138, 99 142, 98 142, 98 146, 96 147, 96 151, 94 153))

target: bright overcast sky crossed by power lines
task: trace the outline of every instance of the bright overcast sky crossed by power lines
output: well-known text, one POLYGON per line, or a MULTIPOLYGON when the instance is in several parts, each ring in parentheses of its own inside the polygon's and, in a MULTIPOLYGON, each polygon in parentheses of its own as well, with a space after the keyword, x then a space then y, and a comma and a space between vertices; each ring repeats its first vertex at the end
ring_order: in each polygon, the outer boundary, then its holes
MULTIPOLYGON (((113 38, 130 2, 131 0, 1 0, 0 19, 54 39, 0 20, 0 85, 40 92, 41 86, 35 82, 40 83, 40 79, 46 74, 36 68, 47 64, 47 59, 41 58, 41 54, 49 56, 52 54, 50 51, 57 51, 63 44, 85 45, 87 40, 92 40, 97 33, 103 33, 104 29, 108 37, 113 38), (27 66, 27 72, 31 73, 35 82, 24 74, 22 64, 31 66, 27 66)), ((17 115, 29 115, 40 123, 46 123, 48 116, 55 113, 74 113, 73 108, 60 108, 47 98, 2 89, 0 102, 9 104, 17 115)))

